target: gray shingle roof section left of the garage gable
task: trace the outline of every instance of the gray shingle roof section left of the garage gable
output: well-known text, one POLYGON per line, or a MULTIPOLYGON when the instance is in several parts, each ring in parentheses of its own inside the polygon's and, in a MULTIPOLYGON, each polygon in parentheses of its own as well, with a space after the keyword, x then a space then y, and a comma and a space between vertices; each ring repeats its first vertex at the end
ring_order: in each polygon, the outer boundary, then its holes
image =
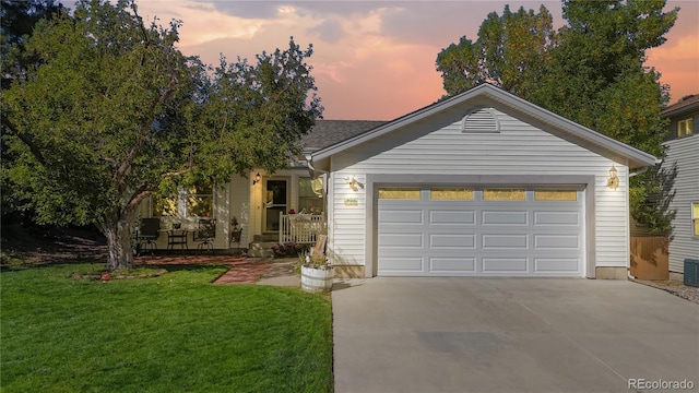
POLYGON ((316 120, 316 126, 301 138, 305 152, 315 152, 365 133, 388 121, 377 120, 316 120))

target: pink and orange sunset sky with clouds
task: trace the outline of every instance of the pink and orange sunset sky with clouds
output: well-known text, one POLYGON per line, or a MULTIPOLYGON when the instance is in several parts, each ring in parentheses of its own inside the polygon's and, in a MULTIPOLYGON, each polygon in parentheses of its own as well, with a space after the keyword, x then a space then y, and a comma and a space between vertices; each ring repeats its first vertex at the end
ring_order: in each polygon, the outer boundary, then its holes
MULTIPOLYGON (((463 35, 475 40, 489 12, 544 4, 562 25, 559 1, 210 1, 138 0, 139 14, 166 25, 182 21, 179 48, 218 64, 285 48, 289 36, 313 45, 318 94, 325 119, 390 120, 445 94, 437 53, 463 35)), ((662 73, 671 103, 699 93, 699 1, 667 1, 679 17, 645 66, 662 73)))

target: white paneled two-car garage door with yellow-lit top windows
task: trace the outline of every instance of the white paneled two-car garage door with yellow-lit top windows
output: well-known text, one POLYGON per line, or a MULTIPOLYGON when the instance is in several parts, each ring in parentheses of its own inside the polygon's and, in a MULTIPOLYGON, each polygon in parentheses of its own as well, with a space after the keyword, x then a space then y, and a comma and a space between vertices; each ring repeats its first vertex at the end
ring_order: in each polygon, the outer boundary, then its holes
POLYGON ((378 275, 582 276, 581 188, 379 188, 378 275))

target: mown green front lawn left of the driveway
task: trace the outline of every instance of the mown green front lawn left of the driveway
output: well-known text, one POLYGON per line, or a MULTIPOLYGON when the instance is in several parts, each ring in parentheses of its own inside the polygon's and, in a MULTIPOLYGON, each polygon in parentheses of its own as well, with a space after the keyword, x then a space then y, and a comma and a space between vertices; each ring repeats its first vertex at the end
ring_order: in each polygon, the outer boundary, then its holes
POLYGON ((2 392, 331 392, 327 295, 211 285, 225 267, 71 278, 0 273, 2 392))

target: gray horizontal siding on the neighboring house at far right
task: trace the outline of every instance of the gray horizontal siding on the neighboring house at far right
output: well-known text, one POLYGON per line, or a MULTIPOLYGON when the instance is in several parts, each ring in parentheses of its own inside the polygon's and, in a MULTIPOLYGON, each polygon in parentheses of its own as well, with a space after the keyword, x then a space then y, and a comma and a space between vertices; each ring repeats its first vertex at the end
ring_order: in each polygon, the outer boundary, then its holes
POLYGON ((691 202, 699 202, 699 135, 668 141, 665 146, 663 166, 677 165, 676 193, 670 204, 677 211, 670 242, 670 271, 683 273, 685 259, 699 259, 699 239, 692 236, 690 211, 691 202))

